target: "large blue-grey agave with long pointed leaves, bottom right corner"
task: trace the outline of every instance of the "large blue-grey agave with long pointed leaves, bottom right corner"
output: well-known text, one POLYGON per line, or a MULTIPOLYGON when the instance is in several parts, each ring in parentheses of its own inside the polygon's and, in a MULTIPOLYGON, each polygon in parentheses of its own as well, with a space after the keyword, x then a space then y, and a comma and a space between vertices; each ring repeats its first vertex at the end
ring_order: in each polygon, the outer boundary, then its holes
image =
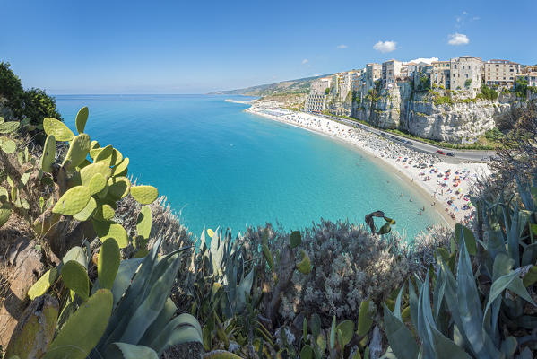
POLYGON ((409 281, 411 324, 420 346, 403 322, 403 288, 394 311, 385 306, 385 330, 391 353, 386 356, 512 358, 518 353, 516 357, 528 357, 534 350, 533 335, 518 336, 537 328, 536 318, 523 314, 524 302, 536 306, 526 289, 535 280, 520 267, 514 267, 515 260, 508 255, 512 242, 486 246, 476 243, 472 232, 463 226, 457 229, 455 234, 459 232, 461 241, 456 276, 448 264, 450 258, 455 258, 453 249, 450 256, 446 256, 446 250, 437 253, 437 275, 433 273, 430 277, 428 273, 423 281, 415 278, 419 293, 409 281), (493 264, 486 268, 487 264, 479 261, 481 265, 474 272, 472 257, 481 250, 493 264), (433 283, 432 307, 430 282, 433 283), (518 314, 516 321, 512 320, 513 314, 518 314))

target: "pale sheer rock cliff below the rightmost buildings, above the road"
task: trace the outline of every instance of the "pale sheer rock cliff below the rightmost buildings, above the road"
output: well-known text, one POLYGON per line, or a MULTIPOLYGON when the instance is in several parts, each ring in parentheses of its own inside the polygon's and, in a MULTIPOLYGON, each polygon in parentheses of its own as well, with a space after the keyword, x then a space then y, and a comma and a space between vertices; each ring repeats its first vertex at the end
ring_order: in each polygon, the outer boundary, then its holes
MULTIPOLYGON (((444 93, 441 93, 443 95, 444 93)), ((438 92, 411 92, 409 83, 382 89, 364 99, 353 116, 381 128, 399 128, 414 136, 461 143, 483 135, 508 115, 512 99, 438 101, 438 92)))

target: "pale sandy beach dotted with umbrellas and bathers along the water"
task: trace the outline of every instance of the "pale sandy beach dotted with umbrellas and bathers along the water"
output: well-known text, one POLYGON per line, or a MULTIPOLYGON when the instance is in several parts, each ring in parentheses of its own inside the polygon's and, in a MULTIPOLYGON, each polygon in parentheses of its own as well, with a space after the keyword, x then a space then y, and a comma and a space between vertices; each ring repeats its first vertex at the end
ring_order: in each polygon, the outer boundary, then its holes
POLYGON ((252 106, 246 111, 333 136, 372 154, 424 190, 429 197, 430 207, 423 210, 436 210, 450 224, 454 224, 455 221, 464 223, 472 219, 473 207, 469 200, 472 184, 478 177, 490 173, 486 163, 442 162, 437 156, 418 153, 385 137, 327 118, 287 109, 266 109, 257 106, 252 106))

